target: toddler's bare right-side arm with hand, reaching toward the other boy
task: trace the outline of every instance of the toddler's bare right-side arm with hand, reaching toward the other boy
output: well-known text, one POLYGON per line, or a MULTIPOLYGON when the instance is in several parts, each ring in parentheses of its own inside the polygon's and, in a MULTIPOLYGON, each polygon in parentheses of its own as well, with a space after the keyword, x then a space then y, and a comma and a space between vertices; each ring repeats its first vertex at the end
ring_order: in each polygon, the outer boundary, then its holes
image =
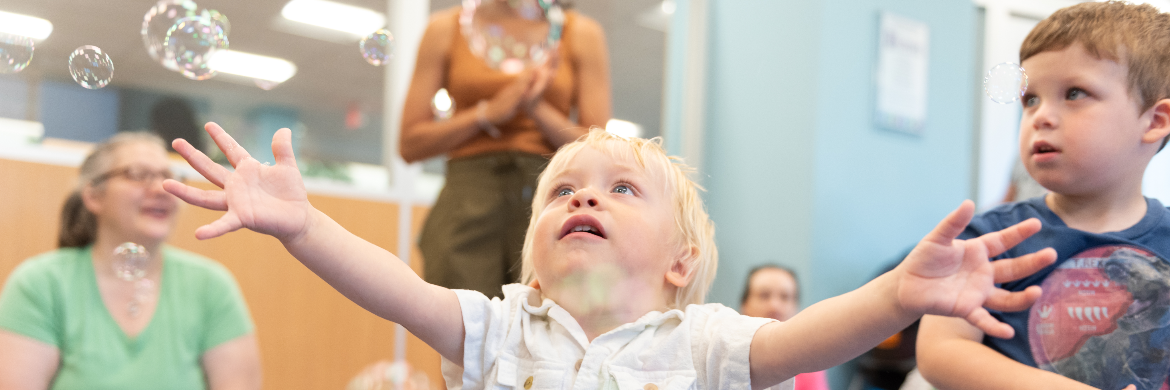
POLYGON ((924 314, 965 319, 989 335, 1011 337, 1012 328, 984 307, 1021 310, 1040 296, 1040 288, 1009 293, 994 283, 1030 275, 1055 261, 1057 253, 1046 248, 992 262, 991 256, 1039 232, 1040 223, 1030 219, 979 238, 955 239, 973 214, 973 204, 964 201, 894 271, 760 328, 751 341, 752 388, 844 363, 924 314))

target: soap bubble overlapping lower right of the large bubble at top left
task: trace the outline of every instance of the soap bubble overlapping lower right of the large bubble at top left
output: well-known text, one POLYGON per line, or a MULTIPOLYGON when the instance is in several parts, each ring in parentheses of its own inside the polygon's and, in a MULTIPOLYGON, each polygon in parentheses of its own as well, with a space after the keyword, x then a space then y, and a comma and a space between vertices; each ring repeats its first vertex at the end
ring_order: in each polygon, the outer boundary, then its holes
POLYGON ((179 19, 166 32, 167 57, 174 59, 179 73, 191 80, 214 77, 207 60, 228 46, 223 27, 204 16, 208 14, 179 19))

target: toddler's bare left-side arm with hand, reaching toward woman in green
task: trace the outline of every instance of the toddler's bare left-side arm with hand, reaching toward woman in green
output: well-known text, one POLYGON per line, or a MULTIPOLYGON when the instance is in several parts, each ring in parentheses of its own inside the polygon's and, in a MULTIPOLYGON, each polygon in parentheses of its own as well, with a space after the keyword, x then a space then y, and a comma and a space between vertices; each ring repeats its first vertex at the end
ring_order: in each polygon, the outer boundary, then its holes
POLYGON ((190 143, 176 139, 174 150, 223 191, 204 191, 166 180, 163 187, 192 205, 226 211, 195 230, 205 240, 239 228, 269 234, 297 260, 366 310, 401 323, 453 362, 463 357, 463 320, 455 293, 429 285, 392 253, 345 231, 309 204, 292 156, 291 131, 273 136, 276 165, 252 158, 215 123, 207 134, 235 171, 214 163, 190 143))

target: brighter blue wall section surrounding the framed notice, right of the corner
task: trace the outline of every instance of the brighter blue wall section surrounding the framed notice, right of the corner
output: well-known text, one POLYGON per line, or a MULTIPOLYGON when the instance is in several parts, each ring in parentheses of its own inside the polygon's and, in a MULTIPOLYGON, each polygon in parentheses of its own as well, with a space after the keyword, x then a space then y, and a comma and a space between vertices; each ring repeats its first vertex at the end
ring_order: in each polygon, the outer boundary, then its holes
POLYGON ((968 1, 825 1, 817 104, 812 274, 820 300, 853 289, 972 196, 975 6, 968 1), (921 136, 874 124, 880 12, 930 27, 921 136), (848 269, 852 272, 842 272, 848 269))

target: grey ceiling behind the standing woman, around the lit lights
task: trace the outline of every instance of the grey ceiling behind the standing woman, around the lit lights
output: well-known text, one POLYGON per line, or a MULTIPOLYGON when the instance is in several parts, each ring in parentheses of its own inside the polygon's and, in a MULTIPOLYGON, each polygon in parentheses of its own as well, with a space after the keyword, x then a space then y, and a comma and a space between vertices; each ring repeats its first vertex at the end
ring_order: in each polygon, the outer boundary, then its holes
MULTIPOLYGON (((367 112, 381 110, 384 69, 366 63, 357 42, 338 43, 289 34, 274 28, 288 0, 197 0, 200 8, 216 9, 230 20, 233 50, 289 60, 297 74, 273 90, 250 81, 220 75, 193 81, 163 68, 143 47, 139 30, 153 0, 15 0, 0 9, 53 22, 53 34, 37 43, 32 63, 18 76, 26 80, 71 82, 67 59, 83 45, 109 54, 115 64, 111 87, 139 88, 216 98, 263 101, 297 108, 345 110, 360 104, 367 112)), ((385 0, 335 0, 385 11, 385 0)), ((658 134, 662 91, 665 35, 636 25, 638 13, 660 0, 578 0, 576 8, 597 19, 606 29, 611 48, 614 116, 642 123, 658 134)), ((432 9, 457 5, 433 0, 432 9)))

